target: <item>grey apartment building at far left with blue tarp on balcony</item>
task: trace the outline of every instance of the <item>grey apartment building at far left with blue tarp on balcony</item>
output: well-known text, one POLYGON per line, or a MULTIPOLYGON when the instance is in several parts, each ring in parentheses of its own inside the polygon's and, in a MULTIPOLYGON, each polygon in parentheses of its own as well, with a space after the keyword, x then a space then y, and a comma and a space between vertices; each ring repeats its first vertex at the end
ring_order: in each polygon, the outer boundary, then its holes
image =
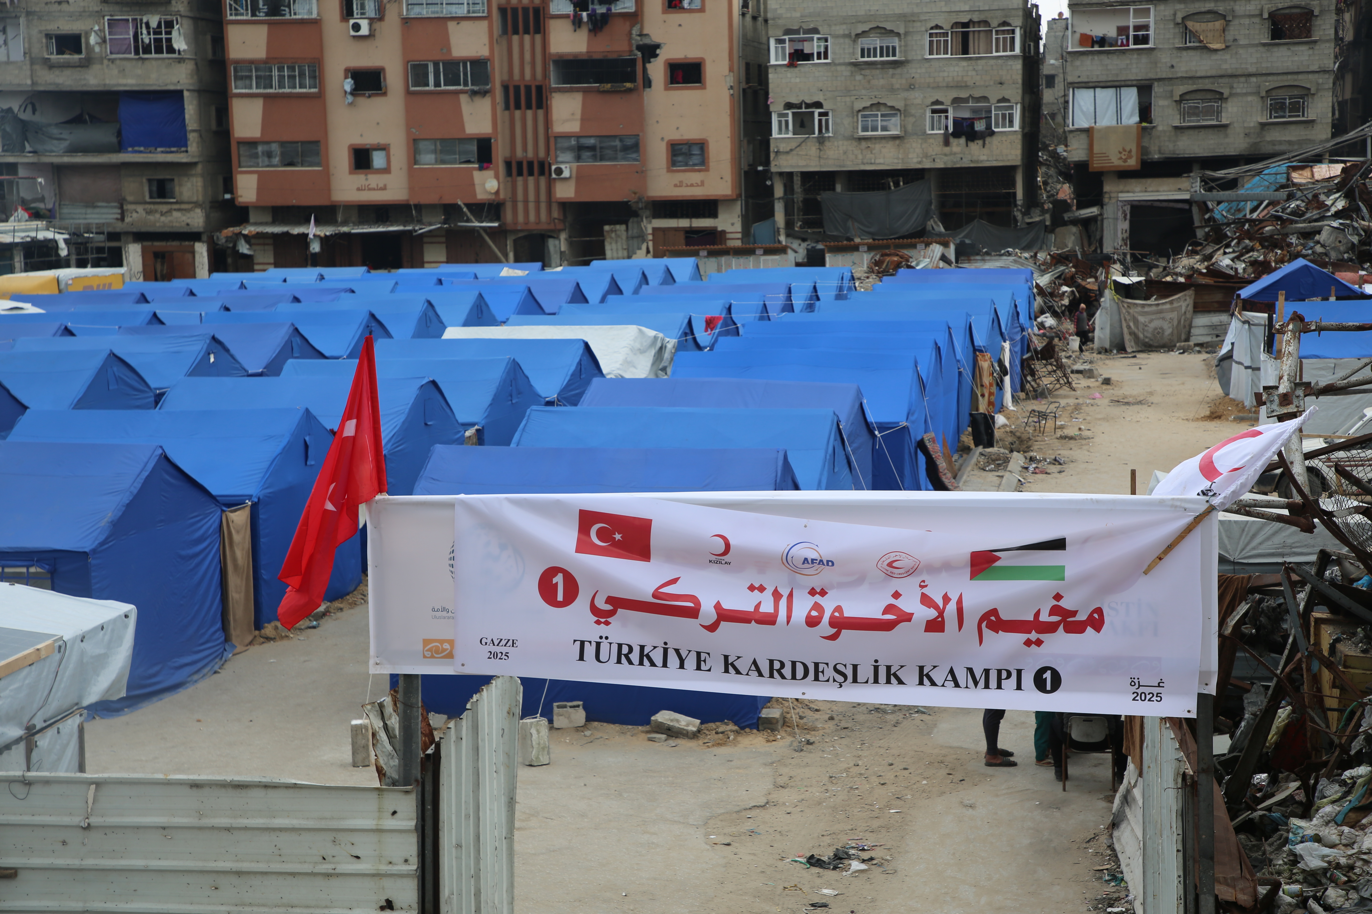
POLYGON ((0 8, 0 273, 228 266, 224 26, 189 0, 8 0, 0 8))

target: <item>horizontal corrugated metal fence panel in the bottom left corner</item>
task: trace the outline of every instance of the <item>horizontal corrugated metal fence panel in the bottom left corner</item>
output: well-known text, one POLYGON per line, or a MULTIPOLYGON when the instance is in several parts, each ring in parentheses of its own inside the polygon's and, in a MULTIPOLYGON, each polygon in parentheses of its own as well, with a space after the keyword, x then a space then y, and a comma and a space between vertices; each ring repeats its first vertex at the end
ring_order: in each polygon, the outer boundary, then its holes
POLYGON ((417 911, 413 789, 15 774, 0 911, 417 911))

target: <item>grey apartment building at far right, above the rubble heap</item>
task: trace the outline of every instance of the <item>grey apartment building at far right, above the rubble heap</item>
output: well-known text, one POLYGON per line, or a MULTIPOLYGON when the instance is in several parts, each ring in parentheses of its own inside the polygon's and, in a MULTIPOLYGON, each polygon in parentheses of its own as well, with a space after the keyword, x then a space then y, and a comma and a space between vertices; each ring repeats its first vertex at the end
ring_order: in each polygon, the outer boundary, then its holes
POLYGON ((1084 229, 1084 245, 1124 258, 1179 254, 1202 222, 1196 204, 1210 199, 1192 197, 1195 175, 1360 126, 1364 7, 1070 3, 1061 38, 1047 48, 1058 78, 1045 85, 1044 106, 1066 137, 1077 201, 1069 219, 1084 229))

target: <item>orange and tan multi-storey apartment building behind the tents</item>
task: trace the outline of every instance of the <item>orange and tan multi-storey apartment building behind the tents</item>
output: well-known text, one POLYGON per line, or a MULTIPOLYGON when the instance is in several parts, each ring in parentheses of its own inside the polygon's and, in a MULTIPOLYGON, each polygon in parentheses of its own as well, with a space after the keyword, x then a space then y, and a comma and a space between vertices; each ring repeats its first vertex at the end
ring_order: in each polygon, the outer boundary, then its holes
POLYGON ((764 1, 226 0, 239 269, 749 238, 764 1))

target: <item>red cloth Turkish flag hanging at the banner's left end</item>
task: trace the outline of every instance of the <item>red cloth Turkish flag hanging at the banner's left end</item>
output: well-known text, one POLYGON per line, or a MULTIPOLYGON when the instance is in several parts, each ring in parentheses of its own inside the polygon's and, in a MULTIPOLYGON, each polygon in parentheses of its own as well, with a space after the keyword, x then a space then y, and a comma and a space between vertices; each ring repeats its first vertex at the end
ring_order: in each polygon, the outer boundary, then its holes
POLYGON ((276 618, 295 625, 324 602, 333 573, 333 551, 357 533, 357 510, 386 492, 386 456, 381 454, 381 410, 376 396, 376 354, 372 337, 353 374, 343 418, 333 444, 305 503, 300 525, 277 576, 291 589, 281 597, 276 618))

